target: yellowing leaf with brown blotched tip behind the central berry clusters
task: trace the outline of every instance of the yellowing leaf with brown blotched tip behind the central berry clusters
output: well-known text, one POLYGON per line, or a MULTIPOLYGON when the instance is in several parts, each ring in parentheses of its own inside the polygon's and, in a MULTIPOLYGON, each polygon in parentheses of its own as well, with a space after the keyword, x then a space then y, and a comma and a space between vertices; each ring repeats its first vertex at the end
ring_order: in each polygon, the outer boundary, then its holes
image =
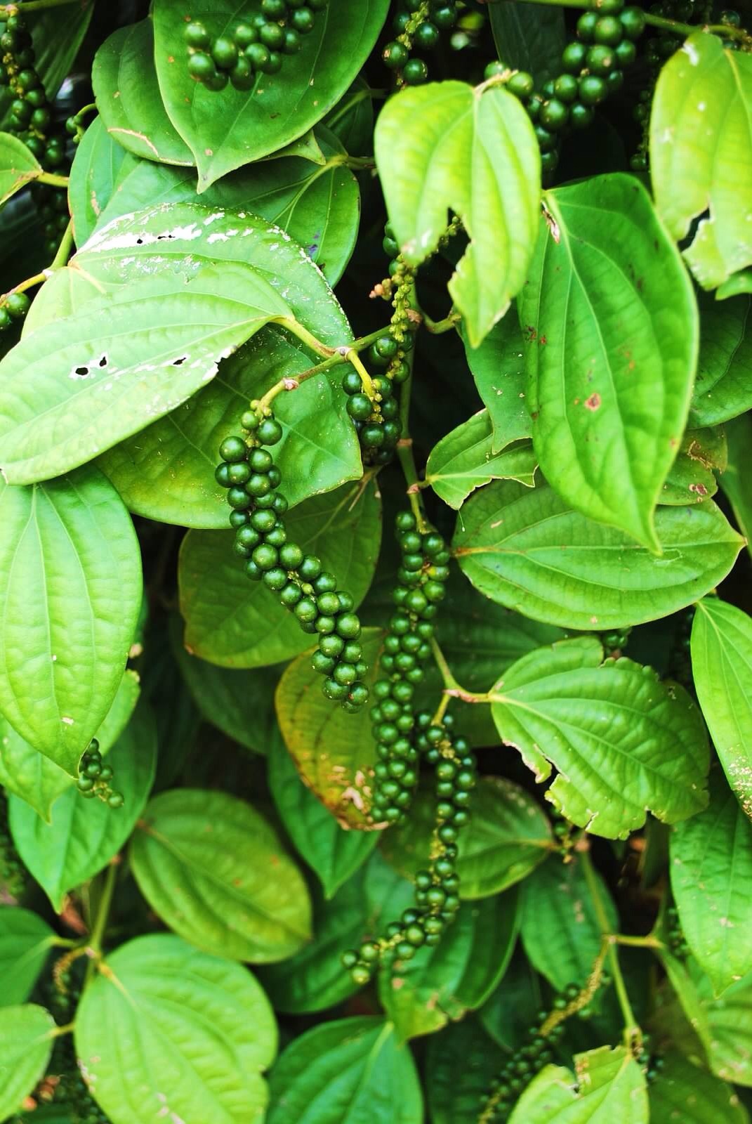
MULTIPOLYGON (((327 568, 328 569, 328 568, 327 568)), ((364 682, 379 676, 381 632, 365 628, 361 637, 369 665, 364 682)), ((375 743, 369 708, 346 714, 332 706, 308 652, 289 665, 277 688, 277 717, 282 737, 302 780, 345 827, 368 831, 375 743)))

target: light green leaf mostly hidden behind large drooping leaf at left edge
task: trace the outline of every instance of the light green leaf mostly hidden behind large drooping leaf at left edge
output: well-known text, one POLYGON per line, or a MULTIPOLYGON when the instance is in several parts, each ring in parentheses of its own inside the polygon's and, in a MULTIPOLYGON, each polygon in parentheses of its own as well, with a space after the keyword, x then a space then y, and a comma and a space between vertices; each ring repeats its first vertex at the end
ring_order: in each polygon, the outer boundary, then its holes
MULTIPOLYGON (((96 737, 102 753, 123 733, 138 701, 138 676, 126 671, 105 722, 96 737)), ((57 797, 74 785, 73 778, 54 761, 38 753, 13 727, 0 718, 0 785, 20 796, 47 823, 57 797)))

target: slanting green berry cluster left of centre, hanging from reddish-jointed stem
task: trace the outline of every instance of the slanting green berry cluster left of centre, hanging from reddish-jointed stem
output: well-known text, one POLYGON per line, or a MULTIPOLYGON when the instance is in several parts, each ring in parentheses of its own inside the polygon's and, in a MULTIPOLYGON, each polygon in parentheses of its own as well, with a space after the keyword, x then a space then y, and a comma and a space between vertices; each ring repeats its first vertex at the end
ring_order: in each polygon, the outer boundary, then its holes
POLYGON ((227 489, 233 508, 235 553, 245 559, 252 581, 262 581, 297 618, 305 633, 318 635, 311 664, 325 676, 324 694, 355 711, 368 699, 362 681, 368 668, 359 642, 361 623, 352 596, 337 589, 320 559, 305 554, 288 540, 282 516, 288 509, 279 490, 282 473, 269 452, 282 437, 282 427, 269 407, 251 402, 241 419, 243 436, 226 437, 219 446, 216 479, 227 489))

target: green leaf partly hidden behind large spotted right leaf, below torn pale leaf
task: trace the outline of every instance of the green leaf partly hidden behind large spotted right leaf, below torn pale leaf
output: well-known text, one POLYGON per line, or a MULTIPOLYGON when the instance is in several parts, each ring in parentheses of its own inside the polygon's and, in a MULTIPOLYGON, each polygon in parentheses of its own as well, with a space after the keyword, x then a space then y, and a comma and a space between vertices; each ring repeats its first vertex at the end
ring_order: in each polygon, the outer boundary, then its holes
POLYGON ((491 452, 499 453, 513 441, 532 437, 523 334, 516 312, 509 311, 495 324, 478 347, 470 346, 464 330, 461 335, 468 365, 493 426, 491 452))

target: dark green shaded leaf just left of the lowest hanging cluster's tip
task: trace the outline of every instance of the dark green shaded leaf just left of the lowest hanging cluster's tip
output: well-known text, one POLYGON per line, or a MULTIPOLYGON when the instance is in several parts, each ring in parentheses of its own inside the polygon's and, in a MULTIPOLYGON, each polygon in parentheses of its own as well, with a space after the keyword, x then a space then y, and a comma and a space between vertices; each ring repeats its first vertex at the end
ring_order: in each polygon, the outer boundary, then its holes
MULTIPOLYGON (((369 839, 362 832, 357 835, 369 839)), ((368 907, 362 877, 351 878, 328 901, 317 890, 314 894, 312 941, 282 963, 266 964, 259 970, 259 978, 274 1009, 309 1015, 334 1007, 354 995, 357 984, 343 969, 342 953, 344 949, 357 948, 366 928, 368 907)))

